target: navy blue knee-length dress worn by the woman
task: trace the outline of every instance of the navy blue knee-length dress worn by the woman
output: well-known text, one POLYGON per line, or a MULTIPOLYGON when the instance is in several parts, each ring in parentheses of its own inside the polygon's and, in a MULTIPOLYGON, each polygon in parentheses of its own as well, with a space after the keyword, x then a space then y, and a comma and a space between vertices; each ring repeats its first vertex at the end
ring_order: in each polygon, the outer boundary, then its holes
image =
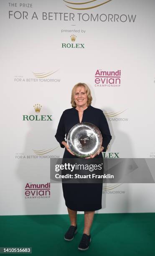
MULTIPOLYGON (((81 123, 83 122, 92 123, 99 128, 102 133, 102 146, 105 152, 112 136, 103 111, 90 105, 84 110, 81 123)), ((64 148, 61 142, 66 141, 65 136, 67 138, 70 129, 78 123, 80 123, 79 113, 76 108, 70 108, 63 112, 55 135, 61 148, 64 148)), ((65 148, 63 158, 76 157, 79 158, 78 156, 71 155, 65 148)), ((95 158, 101 159, 102 153, 95 156, 95 158)), ((65 204, 69 209, 75 211, 95 211, 102 208, 102 183, 62 183, 62 187, 65 204)))

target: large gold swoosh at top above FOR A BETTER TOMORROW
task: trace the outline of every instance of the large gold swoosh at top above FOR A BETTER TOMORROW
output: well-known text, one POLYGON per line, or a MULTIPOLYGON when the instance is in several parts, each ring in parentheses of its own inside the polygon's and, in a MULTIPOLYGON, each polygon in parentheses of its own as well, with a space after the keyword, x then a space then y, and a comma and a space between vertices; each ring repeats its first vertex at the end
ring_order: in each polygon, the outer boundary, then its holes
POLYGON ((66 1, 63 0, 66 3, 66 6, 68 8, 74 9, 74 10, 89 10, 93 8, 97 8, 101 5, 104 5, 112 0, 107 1, 99 1, 99 0, 91 0, 91 1, 84 1, 84 2, 72 2, 72 1, 66 1))

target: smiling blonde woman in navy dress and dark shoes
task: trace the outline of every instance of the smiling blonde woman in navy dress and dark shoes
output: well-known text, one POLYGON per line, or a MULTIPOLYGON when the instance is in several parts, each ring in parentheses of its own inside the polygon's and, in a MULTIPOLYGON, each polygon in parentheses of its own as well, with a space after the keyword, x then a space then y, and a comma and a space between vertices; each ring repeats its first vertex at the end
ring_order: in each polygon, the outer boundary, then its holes
MULTIPOLYGON (((65 147, 64 158, 76 158, 71 152, 69 145, 65 141, 70 129, 82 122, 96 125, 102 133, 102 146, 95 155, 89 158, 102 158, 102 151, 107 150, 107 146, 112 138, 109 131, 107 119, 102 110, 91 106, 91 91, 84 83, 76 84, 71 92, 71 105, 73 108, 67 109, 61 115, 56 140, 61 148, 65 147)), ((84 211, 84 232, 79 244, 79 250, 89 248, 91 241, 90 228, 94 218, 95 210, 102 208, 102 184, 101 183, 62 183, 65 203, 68 209, 71 225, 66 232, 64 239, 71 241, 77 232, 76 215, 77 211, 84 211)))

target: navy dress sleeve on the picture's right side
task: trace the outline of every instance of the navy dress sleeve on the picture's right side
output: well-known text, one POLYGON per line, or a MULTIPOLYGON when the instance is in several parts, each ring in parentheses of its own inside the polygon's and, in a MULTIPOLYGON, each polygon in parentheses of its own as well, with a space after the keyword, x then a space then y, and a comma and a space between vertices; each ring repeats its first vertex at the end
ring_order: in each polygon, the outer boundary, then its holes
POLYGON ((103 152, 106 152, 107 146, 109 145, 109 142, 111 141, 112 136, 110 134, 109 125, 103 111, 101 111, 101 114, 100 114, 99 130, 101 131, 102 138, 103 138, 103 141, 102 141, 102 146, 104 147, 103 152))

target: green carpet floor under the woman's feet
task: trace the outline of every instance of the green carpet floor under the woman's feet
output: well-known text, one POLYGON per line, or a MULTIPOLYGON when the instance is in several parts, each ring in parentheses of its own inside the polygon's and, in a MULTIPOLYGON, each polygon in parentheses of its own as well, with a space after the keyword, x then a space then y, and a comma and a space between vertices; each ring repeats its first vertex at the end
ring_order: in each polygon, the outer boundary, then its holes
POLYGON ((68 215, 0 216, 0 247, 29 246, 33 256, 155 255, 155 213, 95 214, 90 247, 79 251, 83 223, 79 214, 78 233, 69 242, 64 240, 68 215))

